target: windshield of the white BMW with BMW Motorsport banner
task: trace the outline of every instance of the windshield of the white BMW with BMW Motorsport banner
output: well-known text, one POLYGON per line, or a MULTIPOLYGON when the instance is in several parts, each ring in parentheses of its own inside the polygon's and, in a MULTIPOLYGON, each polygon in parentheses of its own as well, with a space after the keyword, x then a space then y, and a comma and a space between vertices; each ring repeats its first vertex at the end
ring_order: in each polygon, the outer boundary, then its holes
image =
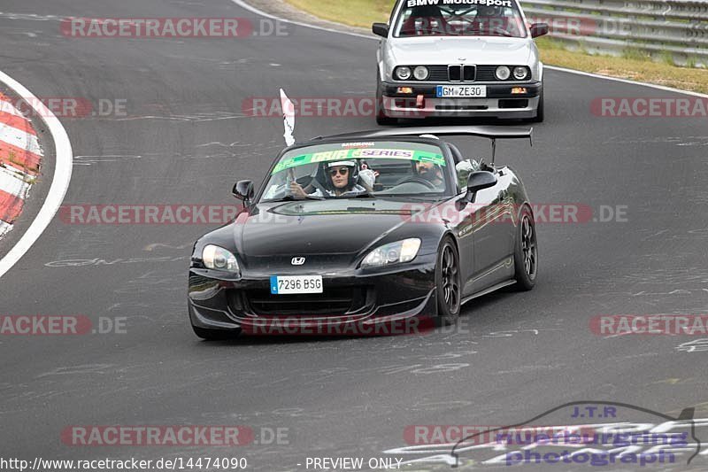
POLYGON ((409 0, 396 20, 394 36, 526 37, 513 0, 409 0))

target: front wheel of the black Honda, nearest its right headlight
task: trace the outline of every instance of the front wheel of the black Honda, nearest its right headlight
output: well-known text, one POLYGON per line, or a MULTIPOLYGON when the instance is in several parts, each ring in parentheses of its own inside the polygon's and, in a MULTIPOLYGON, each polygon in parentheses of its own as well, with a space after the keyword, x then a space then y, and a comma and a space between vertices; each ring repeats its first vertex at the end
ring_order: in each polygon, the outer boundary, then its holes
POLYGON ((462 301, 458 248, 450 237, 443 239, 435 263, 435 296, 437 298, 437 324, 450 326, 459 318, 462 301))

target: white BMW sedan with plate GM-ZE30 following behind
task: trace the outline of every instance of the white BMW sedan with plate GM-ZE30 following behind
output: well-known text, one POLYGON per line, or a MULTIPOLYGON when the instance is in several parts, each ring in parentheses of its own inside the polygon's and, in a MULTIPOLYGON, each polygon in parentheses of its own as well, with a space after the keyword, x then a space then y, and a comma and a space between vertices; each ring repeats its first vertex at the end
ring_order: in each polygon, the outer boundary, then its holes
POLYGON ((374 23, 377 110, 399 118, 489 117, 543 121, 543 64, 516 0, 399 0, 374 23))

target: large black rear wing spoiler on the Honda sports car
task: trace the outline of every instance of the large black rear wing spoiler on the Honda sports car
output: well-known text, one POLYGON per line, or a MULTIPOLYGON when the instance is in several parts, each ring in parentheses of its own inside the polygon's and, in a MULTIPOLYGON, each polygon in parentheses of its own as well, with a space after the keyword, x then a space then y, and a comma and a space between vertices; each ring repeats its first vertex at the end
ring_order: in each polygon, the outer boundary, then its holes
POLYGON ((447 127, 410 127, 410 128, 385 128, 344 133, 342 135, 319 136, 313 139, 367 139, 377 137, 419 136, 419 135, 467 135, 490 139, 492 141, 492 165, 496 154, 497 139, 528 139, 533 146, 534 128, 512 128, 494 126, 447 126, 447 127))

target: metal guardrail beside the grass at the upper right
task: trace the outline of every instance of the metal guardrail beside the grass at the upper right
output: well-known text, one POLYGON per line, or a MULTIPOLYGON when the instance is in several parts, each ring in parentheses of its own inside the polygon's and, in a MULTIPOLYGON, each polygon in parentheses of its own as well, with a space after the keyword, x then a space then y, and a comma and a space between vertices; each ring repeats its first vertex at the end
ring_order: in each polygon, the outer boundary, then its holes
POLYGON ((708 0, 522 0, 527 19, 549 24, 571 48, 628 51, 708 66, 708 0))

